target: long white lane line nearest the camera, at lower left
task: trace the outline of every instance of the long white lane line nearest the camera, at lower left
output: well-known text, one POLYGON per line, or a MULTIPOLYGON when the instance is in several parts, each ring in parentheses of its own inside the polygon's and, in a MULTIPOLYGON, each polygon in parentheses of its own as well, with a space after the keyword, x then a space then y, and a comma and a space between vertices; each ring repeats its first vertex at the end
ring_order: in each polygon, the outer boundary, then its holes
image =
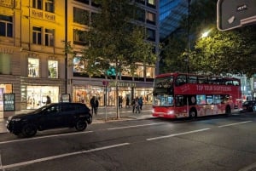
POLYGON ((117 144, 117 145, 102 146, 102 147, 95 148, 95 149, 90 149, 90 150, 87 150, 87 151, 70 152, 70 153, 65 153, 65 154, 56 155, 56 156, 52 156, 52 157, 38 158, 36 160, 30 160, 30 161, 26 161, 26 162, 17 162, 17 163, 14 163, 14 164, 3 165, 2 168, 3 169, 16 168, 16 167, 20 167, 20 166, 24 166, 24 165, 28 165, 28 164, 33 164, 33 163, 36 163, 36 162, 45 162, 45 161, 54 160, 54 159, 61 158, 61 157, 70 157, 70 156, 89 153, 89 152, 93 152, 93 151, 102 151, 102 150, 115 148, 115 147, 119 147, 119 146, 124 146, 124 145, 130 145, 130 143, 122 143, 122 144, 117 144))

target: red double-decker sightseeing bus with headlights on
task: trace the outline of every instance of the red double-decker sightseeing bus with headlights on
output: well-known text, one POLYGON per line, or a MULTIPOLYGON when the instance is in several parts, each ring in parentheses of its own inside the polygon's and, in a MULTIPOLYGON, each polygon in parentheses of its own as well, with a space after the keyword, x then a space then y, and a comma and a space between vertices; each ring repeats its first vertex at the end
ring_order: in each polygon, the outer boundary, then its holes
POLYGON ((241 109, 235 77, 166 73, 155 77, 153 116, 166 118, 230 114, 241 109))

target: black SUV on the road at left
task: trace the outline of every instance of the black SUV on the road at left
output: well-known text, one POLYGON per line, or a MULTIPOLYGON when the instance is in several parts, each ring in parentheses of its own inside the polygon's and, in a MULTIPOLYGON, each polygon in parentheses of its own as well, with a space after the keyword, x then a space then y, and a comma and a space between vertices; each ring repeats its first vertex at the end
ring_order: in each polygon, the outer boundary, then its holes
POLYGON ((37 131, 51 128, 76 128, 83 131, 92 122, 90 109, 82 103, 52 103, 27 114, 9 117, 9 132, 32 137, 37 131))

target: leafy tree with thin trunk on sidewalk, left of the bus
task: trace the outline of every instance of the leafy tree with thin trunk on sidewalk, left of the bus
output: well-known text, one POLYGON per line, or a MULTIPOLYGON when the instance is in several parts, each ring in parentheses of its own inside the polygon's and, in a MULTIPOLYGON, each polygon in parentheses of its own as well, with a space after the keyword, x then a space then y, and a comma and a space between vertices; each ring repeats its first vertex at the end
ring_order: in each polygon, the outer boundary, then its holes
MULTIPOLYGON (((122 71, 128 70, 133 76, 137 63, 155 64, 154 44, 145 41, 146 29, 136 21, 137 3, 130 0, 95 0, 94 3, 100 4, 100 10, 92 15, 89 29, 84 32, 89 43, 82 52, 84 72, 107 77, 109 68, 114 67, 118 85, 122 71)), ((117 86, 116 96, 118 100, 117 86)))

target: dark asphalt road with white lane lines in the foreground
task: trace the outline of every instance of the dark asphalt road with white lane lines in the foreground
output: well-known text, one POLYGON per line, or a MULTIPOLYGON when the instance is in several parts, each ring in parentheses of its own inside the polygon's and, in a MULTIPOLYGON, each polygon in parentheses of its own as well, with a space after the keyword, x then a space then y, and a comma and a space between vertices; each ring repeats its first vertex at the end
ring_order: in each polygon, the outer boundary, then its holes
POLYGON ((30 139, 0 134, 0 170, 253 171, 255 123, 256 113, 248 113, 97 123, 30 139))

